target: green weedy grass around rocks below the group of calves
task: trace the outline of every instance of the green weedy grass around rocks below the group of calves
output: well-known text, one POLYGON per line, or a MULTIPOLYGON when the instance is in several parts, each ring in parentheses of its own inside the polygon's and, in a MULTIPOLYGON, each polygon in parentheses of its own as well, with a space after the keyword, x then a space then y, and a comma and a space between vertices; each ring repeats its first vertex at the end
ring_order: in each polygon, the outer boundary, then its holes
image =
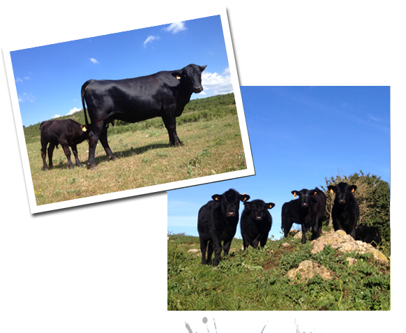
POLYGON ((340 253, 327 246, 310 253, 310 242, 288 237, 269 239, 263 249, 242 251, 242 239, 218 267, 201 264, 199 237, 168 235, 168 310, 389 310, 389 265, 370 254, 340 253), (281 244, 288 242, 289 248, 281 244), (349 266, 346 258, 356 258, 349 266), (286 276, 303 260, 313 260, 334 272, 324 280, 316 274, 308 283, 286 276))

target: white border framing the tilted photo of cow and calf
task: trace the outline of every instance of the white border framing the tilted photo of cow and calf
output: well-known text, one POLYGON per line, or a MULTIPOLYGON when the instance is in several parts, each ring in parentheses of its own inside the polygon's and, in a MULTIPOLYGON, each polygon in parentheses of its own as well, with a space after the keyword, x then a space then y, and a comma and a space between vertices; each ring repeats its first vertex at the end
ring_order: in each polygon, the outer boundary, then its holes
MULTIPOLYGON (((20 154, 21 154, 21 161, 24 168, 24 176, 25 176, 25 184, 27 186, 27 194, 29 199, 29 207, 31 209, 31 213, 38 213, 38 212, 47 212, 54 209, 63 209, 67 207, 74 207, 77 205, 89 205, 95 202, 104 202, 107 200, 114 200, 119 198, 127 198, 133 195, 142 195, 146 193, 153 193, 153 192, 160 192, 160 191, 169 191, 175 188, 182 188, 188 186, 195 186, 200 184, 206 184, 211 182, 219 182, 222 180, 227 179, 234 179, 239 177, 246 177, 255 175, 254 170, 254 163, 253 163, 253 156, 250 149, 250 142, 248 138, 248 130, 246 126, 246 119, 243 112, 243 103, 241 99, 241 91, 239 88, 239 78, 236 69, 236 63, 234 58, 234 50, 232 46, 232 38, 230 34, 230 28, 227 18, 227 10, 226 7, 218 7, 206 10, 199 10, 192 13, 183 13, 179 15, 172 15, 168 17, 160 17, 153 20, 148 21, 140 21, 140 22, 133 22, 130 24, 121 24, 114 27, 105 27, 100 29, 76 32, 73 34, 63 35, 63 36, 54 36, 50 38, 38 39, 38 40, 30 40, 27 42, 22 43, 12 43, 8 45, 3 45, 3 57, 6 64, 6 73, 7 73, 7 80, 8 86, 10 88, 10 97, 11 102, 13 105, 13 114, 15 117, 15 127, 17 131, 17 138, 20 145, 20 154), (234 90, 234 98, 236 101, 236 109, 239 118, 239 125, 241 130, 241 139, 243 141, 243 149, 244 154, 246 157, 246 170, 238 170, 234 172, 226 172, 218 175, 209 175, 205 177, 199 177, 194 179, 186 179, 181 180, 178 182, 171 182, 166 184, 159 184, 153 186, 147 186, 142 188, 134 188, 131 190, 126 191, 119 191, 115 193, 107 193, 102 195, 94 195, 88 198, 80 198, 74 200, 67 200, 63 202, 55 202, 52 204, 47 205, 36 205, 36 199, 34 194, 33 188, 33 181, 31 177, 31 170, 29 166, 29 158, 28 158, 28 151, 27 146, 24 140, 24 130, 22 127, 22 119, 20 113, 20 105, 18 103, 17 98, 17 89, 15 85, 15 79, 13 75, 13 66, 11 64, 11 57, 10 52, 16 50, 23 50, 30 47, 38 47, 43 45, 50 45, 54 43, 63 43, 70 40, 77 40, 82 38, 90 38, 95 36, 102 36, 105 34, 114 34, 122 31, 129 31, 134 29, 142 29, 146 27, 155 27, 161 24, 170 24, 172 22, 180 22, 186 20, 195 20, 202 17, 209 17, 213 15, 220 15, 222 26, 223 26, 223 35, 225 38, 225 47, 227 50, 227 58, 229 61, 230 66, 230 75, 232 78, 232 87, 234 90)), ((108 203, 107 203, 108 205, 108 203)), ((83 207, 84 210, 86 207, 83 207)))

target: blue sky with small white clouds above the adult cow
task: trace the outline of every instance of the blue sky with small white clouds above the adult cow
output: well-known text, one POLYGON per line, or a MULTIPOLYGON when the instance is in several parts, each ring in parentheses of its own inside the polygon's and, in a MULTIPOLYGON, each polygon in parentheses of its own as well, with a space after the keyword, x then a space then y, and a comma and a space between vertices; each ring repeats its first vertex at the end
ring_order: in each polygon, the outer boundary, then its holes
POLYGON ((22 124, 29 126, 82 109, 89 79, 119 80, 207 65, 204 91, 232 92, 220 15, 10 52, 22 124))

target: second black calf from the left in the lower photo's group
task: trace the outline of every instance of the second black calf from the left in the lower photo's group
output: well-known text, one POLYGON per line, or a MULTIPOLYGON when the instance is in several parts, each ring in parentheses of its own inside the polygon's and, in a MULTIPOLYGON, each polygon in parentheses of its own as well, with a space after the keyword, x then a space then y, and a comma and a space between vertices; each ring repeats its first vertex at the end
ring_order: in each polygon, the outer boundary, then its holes
POLYGON ((275 204, 253 200, 244 202, 244 206, 240 223, 244 249, 248 246, 256 249, 258 244, 265 246, 272 226, 272 216, 268 209, 275 207, 275 204))

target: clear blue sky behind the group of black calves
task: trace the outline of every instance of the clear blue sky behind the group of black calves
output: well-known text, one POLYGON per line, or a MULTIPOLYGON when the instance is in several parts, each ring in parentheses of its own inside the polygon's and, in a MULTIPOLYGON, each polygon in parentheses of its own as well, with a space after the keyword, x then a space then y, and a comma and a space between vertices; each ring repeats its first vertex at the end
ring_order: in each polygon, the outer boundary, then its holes
MULTIPOLYGON (((255 176, 168 191, 168 231, 198 236, 197 212, 229 188, 276 204, 269 237, 291 191, 362 170, 390 182, 389 87, 241 87, 255 176)), ((243 205, 240 205, 240 216, 243 205)), ((241 238, 239 226, 236 237, 241 238)))

